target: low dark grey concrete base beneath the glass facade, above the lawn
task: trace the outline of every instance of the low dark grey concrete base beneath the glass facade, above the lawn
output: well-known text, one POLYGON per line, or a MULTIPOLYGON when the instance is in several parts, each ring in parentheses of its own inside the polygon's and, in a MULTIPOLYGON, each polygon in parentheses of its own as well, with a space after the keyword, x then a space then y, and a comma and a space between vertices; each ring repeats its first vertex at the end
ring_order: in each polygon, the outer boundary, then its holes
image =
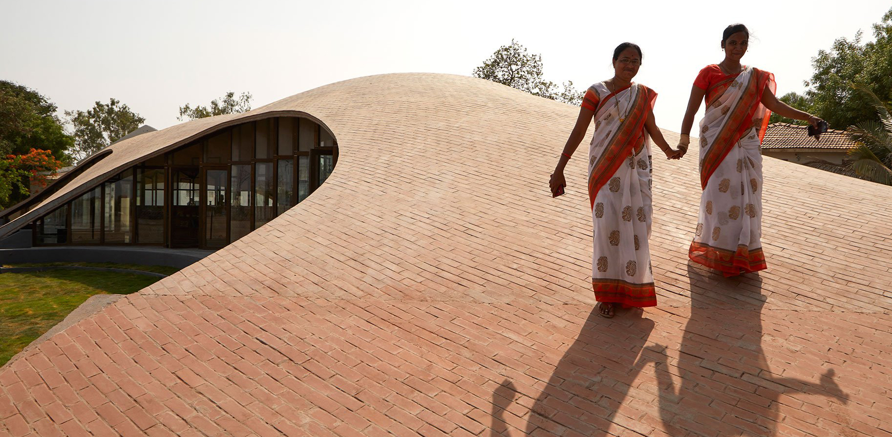
POLYGON ((29 247, 0 249, 0 263, 122 263, 182 269, 212 253, 164 247, 29 247))

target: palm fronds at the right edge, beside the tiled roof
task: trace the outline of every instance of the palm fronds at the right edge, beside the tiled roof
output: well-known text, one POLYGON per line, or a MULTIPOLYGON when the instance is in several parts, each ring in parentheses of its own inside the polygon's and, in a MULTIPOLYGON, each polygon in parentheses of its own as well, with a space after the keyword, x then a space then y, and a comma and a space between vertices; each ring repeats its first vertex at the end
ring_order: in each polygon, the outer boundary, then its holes
POLYGON ((880 121, 869 120, 849 126, 848 131, 857 145, 848 150, 848 158, 843 159, 841 165, 815 159, 806 162, 805 166, 892 185, 892 105, 881 101, 865 85, 853 87, 873 100, 873 107, 877 109, 880 121))

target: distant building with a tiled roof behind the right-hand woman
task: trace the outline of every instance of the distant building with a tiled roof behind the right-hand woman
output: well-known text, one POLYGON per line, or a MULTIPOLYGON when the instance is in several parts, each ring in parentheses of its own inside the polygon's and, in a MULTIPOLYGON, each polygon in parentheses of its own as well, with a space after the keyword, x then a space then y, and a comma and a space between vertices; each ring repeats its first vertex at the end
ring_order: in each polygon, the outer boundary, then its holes
POLYGON ((846 131, 830 129, 821 134, 821 140, 817 141, 814 136, 808 136, 807 129, 807 125, 789 123, 768 125, 762 141, 762 154, 797 164, 814 159, 842 164, 847 151, 855 147, 855 141, 846 131))

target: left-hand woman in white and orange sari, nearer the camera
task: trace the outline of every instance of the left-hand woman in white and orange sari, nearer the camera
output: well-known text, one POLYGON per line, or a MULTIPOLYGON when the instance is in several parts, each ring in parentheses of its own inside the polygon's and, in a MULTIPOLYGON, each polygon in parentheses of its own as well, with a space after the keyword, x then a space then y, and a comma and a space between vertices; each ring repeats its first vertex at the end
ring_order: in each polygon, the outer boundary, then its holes
POLYGON ((599 314, 614 316, 616 304, 657 305, 648 239, 651 159, 648 134, 666 158, 681 158, 672 150, 654 120, 657 93, 632 83, 641 64, 641 49, 632 43, 616 47, 615 75, 591 85, 570 138, 549 182, 553 197, 564 194, 564 167, 582 142, 592 118, 595 134, 589 148, 589 198, 594 222, 591 285, 599 314))

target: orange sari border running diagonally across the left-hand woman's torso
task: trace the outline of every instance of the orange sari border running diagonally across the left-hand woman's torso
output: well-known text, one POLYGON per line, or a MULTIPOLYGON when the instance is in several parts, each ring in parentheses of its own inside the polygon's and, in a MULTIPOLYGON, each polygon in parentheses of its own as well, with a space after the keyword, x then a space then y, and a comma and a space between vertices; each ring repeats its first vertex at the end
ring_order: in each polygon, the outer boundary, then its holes
MULTIPOLYGON (((635 98, 632 110, 625 117, 624 122, 614 134, 613 140, 605 146, 604 153, 598 158, 598 162, 591 170, 589 178, 589 200, 591 207, 595 207, 595 198, 598 197, 598 191, 607 184, 607 181, 613 177, 616 170, 623 165, 625 158, 628 158, 632 150, 640 148, 644 143, 644 122, 648 119, 649 111, 654 108, 654 101, 657 99, 657 93, 647 86, 638 85, 640 91, 635 98)), ((611 94, 614 96, 614 94, 611 94)), ((608 98, 601 101, 601 105, 606 105, 608 98)))

